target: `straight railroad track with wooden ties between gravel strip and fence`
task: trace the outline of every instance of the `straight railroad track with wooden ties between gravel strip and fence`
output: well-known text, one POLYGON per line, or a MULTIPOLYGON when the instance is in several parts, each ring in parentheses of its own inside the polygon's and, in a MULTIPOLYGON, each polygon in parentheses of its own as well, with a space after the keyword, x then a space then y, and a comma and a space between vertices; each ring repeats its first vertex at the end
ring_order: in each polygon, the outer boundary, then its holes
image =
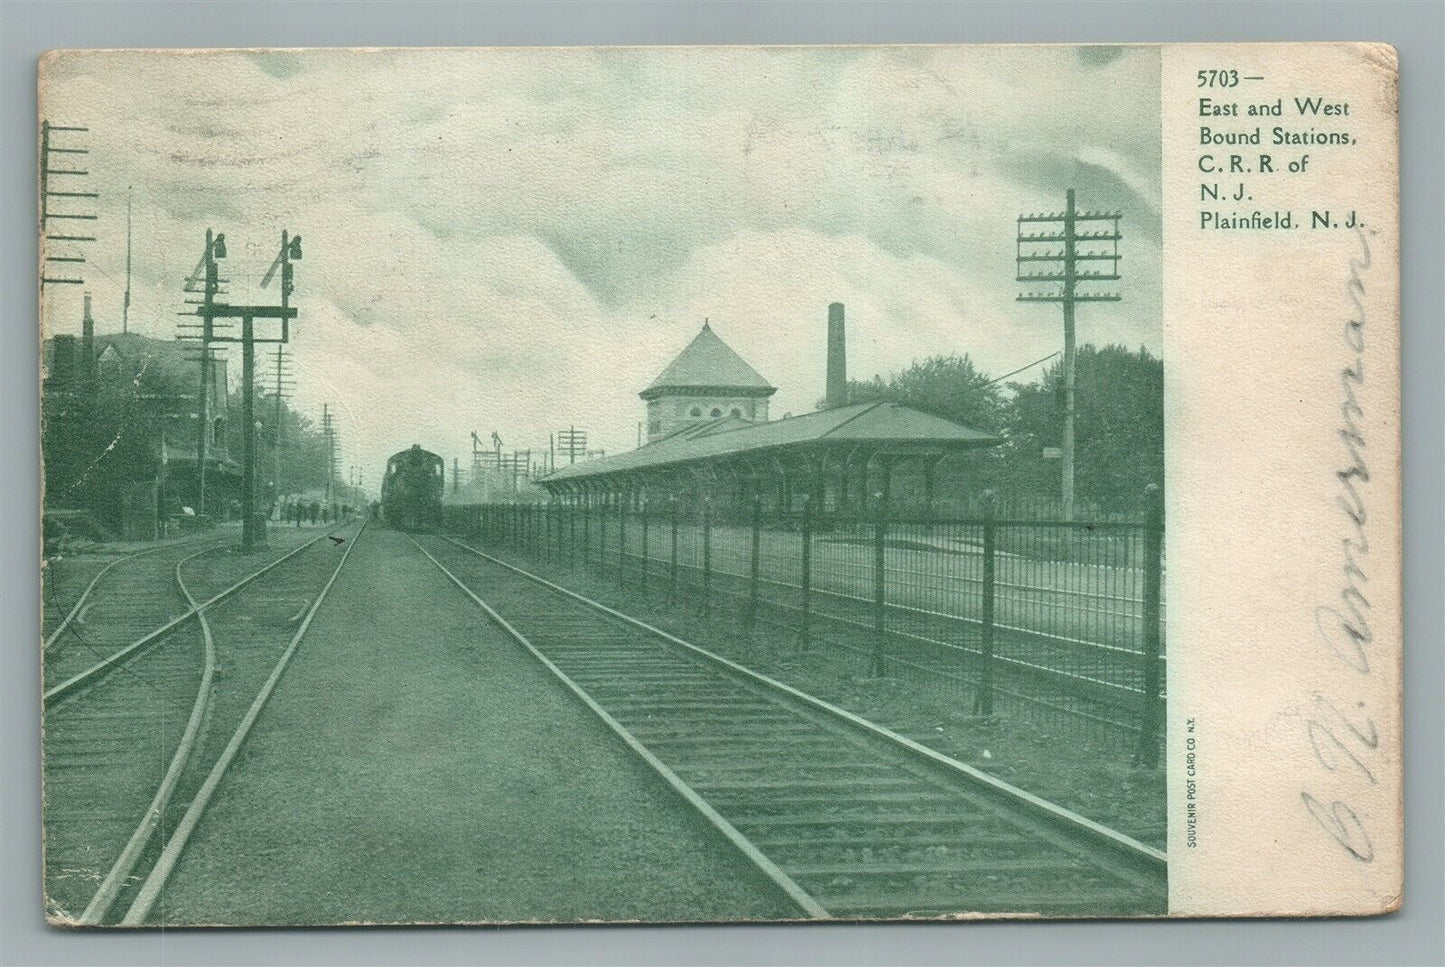
POLYGON ((1166 909, 1159 850, 467 543, 426 543, 805 916, 1166 909))

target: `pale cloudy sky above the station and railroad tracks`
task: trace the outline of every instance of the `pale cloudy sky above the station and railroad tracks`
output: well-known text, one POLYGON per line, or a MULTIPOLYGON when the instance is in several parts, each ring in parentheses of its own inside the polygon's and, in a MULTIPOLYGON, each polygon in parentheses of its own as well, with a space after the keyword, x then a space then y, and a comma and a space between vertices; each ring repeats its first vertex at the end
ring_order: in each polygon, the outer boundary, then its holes
MULTIPOLYGON (((156 338, 208 227, 236 304, 275 302, 259 279, 302 236, 293 405, 331 405, 368 481, 413 442, 465 465, 473 429, 631 448, 704 319, 773 418, 822 397, 829 302, 853 379, 949 353, 1003 376, 1062 348, 1058 306, 1016 302, 1014 238, 1071 186, 1124 215, 1123 299, 1082 306, 1079 343, 1160 350, 1156 48, 66 52, 40 116, 90 127, 64 137, 100 192, 100 332, 127 199, 130 331, 156 338)), ((48 335, 79 331, 77 289, 46 286, 48 335)))

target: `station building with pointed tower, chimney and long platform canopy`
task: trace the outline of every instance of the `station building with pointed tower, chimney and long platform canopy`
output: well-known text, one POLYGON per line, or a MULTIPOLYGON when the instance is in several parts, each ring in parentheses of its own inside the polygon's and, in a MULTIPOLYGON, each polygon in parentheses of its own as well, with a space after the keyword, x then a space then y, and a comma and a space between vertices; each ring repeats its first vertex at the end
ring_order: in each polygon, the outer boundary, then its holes
POLYGON ((825 406, 769 421, 776 387, 704 322, 639 393, 647 403, 646 445, 538 483, 584 503, 707 499, 722 515, 754 499, 769 512, 795 513, 805 497, 819 513, 861 513, 879 496, 894 509, 932 509, 941 481, 961 486, 959 458, 1001 442, 899 403, 850 403, 845 366, 844 309, 832 304, 825 406))

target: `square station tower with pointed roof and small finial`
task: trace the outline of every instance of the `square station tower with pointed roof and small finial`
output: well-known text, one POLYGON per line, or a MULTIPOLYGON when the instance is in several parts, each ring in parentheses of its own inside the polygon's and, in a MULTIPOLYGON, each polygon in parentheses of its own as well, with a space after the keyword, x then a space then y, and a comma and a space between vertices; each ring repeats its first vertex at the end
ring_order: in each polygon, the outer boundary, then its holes
POLYGON ((647 441, 725 416, 764 424, 767 397, 776 392, 704 321, 678 358, 639 393, 647 402, 647 441))

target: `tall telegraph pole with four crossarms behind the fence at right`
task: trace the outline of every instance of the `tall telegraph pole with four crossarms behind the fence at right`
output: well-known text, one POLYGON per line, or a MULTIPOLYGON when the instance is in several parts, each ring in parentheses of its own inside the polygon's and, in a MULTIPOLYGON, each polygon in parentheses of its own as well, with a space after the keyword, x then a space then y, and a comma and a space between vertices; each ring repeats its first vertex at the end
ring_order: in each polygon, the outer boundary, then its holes
POLYGON ((1017 280, 1042 282, 1043 292, 1023 292, 1019 302, 1058 302, 1064 306, 1064 517, 1074 519, 1074 308, 1079 302, 1118 302, 1117 292, 1079 292, 1079 283, 1113 282, 1118 276, 1117 211, 1078 211, 1074 189, 1062 212, 1019 215, 1017 280), (1027 227, 1026 227, 1027 225, 1027 227), (1084 227, 1084 230, 1079 228, 1084 227), (1058 246, 1062 243, 1062 249, 1058 246), (1079 250, 1079 243, 1087 246, 1079 250), (1097 267, 1088 267, 1095 265, 1097 267), (1082 266, 1082 267, 1081 267, 1082 266), (1058 289, 1053 286, 1058 285, 1058 289))

